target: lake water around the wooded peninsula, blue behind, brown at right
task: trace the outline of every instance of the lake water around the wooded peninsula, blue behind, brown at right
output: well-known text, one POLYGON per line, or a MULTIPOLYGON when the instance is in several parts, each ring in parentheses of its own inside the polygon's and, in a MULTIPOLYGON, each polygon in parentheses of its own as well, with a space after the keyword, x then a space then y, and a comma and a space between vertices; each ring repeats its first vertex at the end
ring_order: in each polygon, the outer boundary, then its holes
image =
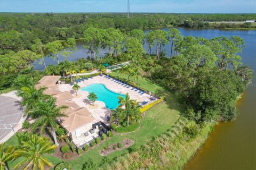
MULTIPOLYGON (((167 28, 161 28, 167 30, 167 28)), ((256 73, 256 31, 255 30, 218 30, 177 28, 183 36, 199 36, 207 39, 217 36, 239 36, 245 41, 242 62, 256 73)), ((147 33, 150 29, 145 30, 147 33)), ((154 29, 151 29, 154 30, 154 29)), ((77 42, 77 51, 69 60, 87 57, 84 43, 77 42)), ((147 50, 147 45, 144 46, 147 50)), ((165 47, 170 56, 170 45, 165 47)), ((155 48, 152 49, 155 52, 155 48)), ((64 58, 61 57, 61 61, 64 58)), ((56 64, 52 58, 46 58, 46 64, 56 64)), ((36 69, 43 65, 35 63, 36 69)), ((255 169, 256 168, 256 79, 245 90, 237 102, 239 115, 233 122, 219 123, 201 150, 188 162, 184 169, 255 169)))

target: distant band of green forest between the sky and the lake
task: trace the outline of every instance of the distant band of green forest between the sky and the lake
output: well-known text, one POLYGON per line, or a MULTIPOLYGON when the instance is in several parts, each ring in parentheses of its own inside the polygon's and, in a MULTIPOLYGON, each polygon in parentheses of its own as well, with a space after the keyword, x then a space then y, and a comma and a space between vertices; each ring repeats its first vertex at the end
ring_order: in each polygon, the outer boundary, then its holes
POLYGON ((189 28, 251 28, 250 24, 213 25, 203 21, 245 21, 255 18, 256 14, 133 13, 128 19, 125 13, 0 13, 0 54, 6 49, 15 52, 30 49, 36 38, 44 44, 54 40, 79 39, 83 31, 90 27, 115 28, 122 32, 169 25, 189 28))

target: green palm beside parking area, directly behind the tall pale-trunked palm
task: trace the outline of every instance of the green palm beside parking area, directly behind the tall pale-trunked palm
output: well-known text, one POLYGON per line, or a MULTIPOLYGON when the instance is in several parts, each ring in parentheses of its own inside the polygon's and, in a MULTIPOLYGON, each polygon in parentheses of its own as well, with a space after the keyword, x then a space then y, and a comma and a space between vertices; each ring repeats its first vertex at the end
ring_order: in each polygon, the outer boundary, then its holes
POLYGON ((28 87, 22 87, 18 90, 17 95, 22 97, 22 106, 26 106, 25 113, 29 113, 36 105, 39 100, 49 99, 49 95, 44 95, 43 91, 46 87, 41 87, 38 90, 32 85, 28 87))

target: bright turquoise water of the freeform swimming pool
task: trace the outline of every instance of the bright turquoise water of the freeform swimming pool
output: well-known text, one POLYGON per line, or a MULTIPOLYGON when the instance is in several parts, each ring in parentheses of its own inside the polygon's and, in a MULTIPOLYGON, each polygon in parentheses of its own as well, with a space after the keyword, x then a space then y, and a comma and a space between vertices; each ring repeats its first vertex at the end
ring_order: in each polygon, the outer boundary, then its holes
POLYGON ((116 109, 118 104, 118 96, 122 96, 123 98, 125 95, 118 94, 114 91, 109 90, 104 84, 90 84, 89 86, 83 87, 81 90, 94 92, 97 95, 99 101, 103 101, 107 108, 109 109, 116 109))

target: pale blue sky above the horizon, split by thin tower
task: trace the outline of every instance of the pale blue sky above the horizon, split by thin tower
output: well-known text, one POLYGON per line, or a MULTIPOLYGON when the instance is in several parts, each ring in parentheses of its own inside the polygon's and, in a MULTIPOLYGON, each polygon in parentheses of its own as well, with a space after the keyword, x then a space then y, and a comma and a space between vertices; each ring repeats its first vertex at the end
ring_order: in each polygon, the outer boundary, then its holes
MULTIPOLYGON (((126 12, 127 0, 0 0, 0 12, 126 12)), ((130 0, 131 12, 256 13, 256 0, 130 0)))

